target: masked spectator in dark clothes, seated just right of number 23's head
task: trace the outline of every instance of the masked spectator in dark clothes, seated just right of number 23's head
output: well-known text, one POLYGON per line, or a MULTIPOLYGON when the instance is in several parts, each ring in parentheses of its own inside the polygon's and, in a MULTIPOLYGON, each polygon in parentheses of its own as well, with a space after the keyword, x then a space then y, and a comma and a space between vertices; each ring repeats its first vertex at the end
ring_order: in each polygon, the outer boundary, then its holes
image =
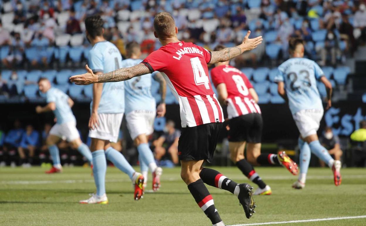
POLYGON ((327 56, 330 56, 330 63, 336 66, 337 55, 340 55, 339 43, 333 31, 329 30, 325 37, 325 47, 320 50, 320 66, 325 66, 327 56))

